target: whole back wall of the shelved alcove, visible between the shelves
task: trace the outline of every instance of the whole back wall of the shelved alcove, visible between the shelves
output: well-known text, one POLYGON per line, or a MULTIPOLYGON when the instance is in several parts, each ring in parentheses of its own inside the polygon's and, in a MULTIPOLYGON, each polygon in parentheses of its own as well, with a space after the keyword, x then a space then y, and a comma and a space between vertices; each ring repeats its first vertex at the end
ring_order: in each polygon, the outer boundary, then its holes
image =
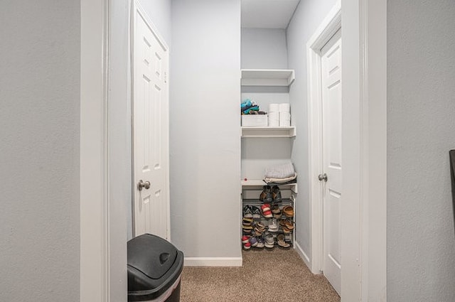
MULTIPOLYGON (((241 41, 242 69, 287 69, 286 30, 242 28, 241 41)), ((289 88, 243 86, 243 99, 255 100, 259 108, 267 112, 269 104, 289 103, 289 88)), ((289 139, 242 139, 242 180, 245 177, 262 179, 264 168, 286 163, 289 158, 289 139)))

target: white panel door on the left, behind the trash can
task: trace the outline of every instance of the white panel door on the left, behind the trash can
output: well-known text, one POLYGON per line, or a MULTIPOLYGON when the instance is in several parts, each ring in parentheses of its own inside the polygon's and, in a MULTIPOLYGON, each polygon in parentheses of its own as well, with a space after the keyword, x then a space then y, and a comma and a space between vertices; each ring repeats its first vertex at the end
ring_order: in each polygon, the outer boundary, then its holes
POLYGON ((137 9, 133 39, 134 235, 168 239, 168 51, 137 9))

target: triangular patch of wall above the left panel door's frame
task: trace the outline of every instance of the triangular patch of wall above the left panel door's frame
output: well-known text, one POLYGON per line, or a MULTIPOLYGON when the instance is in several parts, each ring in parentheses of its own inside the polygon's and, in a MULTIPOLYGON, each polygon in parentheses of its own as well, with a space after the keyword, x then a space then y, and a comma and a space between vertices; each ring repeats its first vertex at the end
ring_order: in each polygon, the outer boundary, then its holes
POLYGON ((171 2, 171 0, 139 0, 169 48, 171 48, 171 2))

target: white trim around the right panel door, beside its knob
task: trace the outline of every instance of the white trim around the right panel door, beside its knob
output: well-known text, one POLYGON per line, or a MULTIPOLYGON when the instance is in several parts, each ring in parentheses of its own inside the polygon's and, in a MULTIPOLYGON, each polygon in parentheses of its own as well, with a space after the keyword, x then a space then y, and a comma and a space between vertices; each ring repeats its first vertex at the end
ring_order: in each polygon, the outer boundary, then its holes
POLYGON ((321 48, 341 29, 341 3, 331 9, 308 43, 309 197, 311 217, 311 272, 321 274, 323 265, 323 173, 321 48))

